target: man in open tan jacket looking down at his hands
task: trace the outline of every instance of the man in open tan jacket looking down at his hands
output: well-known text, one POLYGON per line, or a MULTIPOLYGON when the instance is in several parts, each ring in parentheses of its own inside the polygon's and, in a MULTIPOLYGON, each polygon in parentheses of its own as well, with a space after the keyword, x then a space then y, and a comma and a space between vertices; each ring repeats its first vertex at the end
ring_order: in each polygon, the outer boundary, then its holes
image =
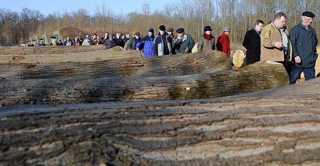
POLYGON ((261 30, 261 60, 282 63, 286 72, 291 73, 292 45, 285 28, 286 15, 275 14, 273 21, 261 30))

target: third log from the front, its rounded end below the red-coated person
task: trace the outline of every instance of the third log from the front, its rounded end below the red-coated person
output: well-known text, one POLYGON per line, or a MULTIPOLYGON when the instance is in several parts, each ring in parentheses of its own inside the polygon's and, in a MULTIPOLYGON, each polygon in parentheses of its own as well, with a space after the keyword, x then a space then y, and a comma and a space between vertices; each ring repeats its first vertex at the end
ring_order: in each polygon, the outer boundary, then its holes
POLYGON ((231 66, 224 53, 206 50, 193 54, 133 56, 95 62, 0 63, 0 68, 0 77, 5 79, 52 79, 177 76, 230 70, 231 66))

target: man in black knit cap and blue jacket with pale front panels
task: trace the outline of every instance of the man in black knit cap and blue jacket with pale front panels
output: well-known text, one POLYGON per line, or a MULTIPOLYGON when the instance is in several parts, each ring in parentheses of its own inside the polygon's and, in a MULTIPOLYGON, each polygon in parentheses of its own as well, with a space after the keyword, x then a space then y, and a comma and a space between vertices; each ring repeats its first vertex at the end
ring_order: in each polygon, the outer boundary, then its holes
POLYGON ((165 32, 165 26, 159 26, 159 33, 153 40, 153 54, 158 55, 171 55, 172 54, 172 39, 169 34, 165 32))

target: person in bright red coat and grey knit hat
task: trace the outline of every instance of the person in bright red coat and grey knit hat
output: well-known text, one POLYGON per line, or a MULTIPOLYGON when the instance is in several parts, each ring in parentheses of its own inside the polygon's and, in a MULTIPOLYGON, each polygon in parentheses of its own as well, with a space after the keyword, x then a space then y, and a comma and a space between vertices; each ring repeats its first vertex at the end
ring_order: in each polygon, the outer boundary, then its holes
POLYGON ((228 57, 228 60, 230 61, 230 39, 228 35, 230 34, 230 28, 228 26, 225 26, 223 28, 223 33, 218 37, 216 41, 216 49, 219 51, 222 51, 226 54, 228 57))

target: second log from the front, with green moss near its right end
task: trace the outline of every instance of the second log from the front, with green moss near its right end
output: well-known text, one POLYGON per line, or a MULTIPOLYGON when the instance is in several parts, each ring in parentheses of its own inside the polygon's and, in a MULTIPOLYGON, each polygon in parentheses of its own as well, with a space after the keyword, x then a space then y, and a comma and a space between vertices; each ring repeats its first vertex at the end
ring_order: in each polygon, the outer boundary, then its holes
POLYGON ((289 84, 282 64, 260 61, 237 70, 122 79, 1 80, 0 105, 205 99, 289 84))

